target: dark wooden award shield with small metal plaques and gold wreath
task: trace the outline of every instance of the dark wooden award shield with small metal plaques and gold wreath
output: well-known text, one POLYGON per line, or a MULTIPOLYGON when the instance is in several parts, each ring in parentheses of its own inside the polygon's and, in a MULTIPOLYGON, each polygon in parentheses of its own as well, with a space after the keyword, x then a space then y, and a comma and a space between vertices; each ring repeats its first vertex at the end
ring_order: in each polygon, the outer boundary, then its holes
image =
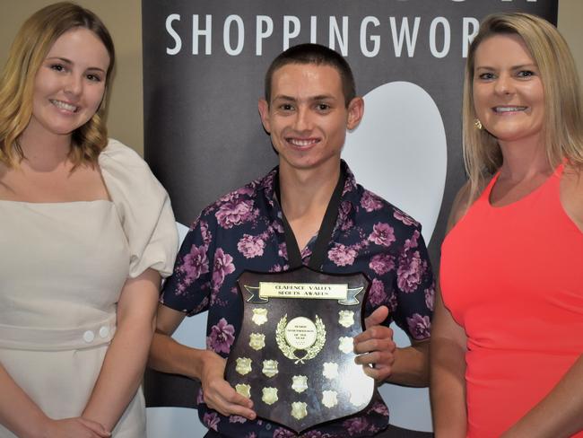
POLYGON ((245 271, 243 320, 225 379, 253 400, 257 416, 296 433, 370 404, 375 382, 354 364, 370 281, 299 267, 245 271))

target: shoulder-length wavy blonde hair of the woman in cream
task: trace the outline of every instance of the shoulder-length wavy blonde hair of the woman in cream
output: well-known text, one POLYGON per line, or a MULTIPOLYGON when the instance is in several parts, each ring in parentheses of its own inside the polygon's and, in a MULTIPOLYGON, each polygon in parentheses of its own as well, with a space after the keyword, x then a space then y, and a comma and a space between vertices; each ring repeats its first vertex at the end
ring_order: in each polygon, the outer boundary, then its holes
POLYGON ((109 67, 105 77, 106 92, 99 109, 73 132, 70 159, 75 167, 82 163, 93 165, 108 143, 105 102, 115 64, 113 40, 103 22, 91 11, 68 2, 51 4, 33 13, 22 24, 0 79, 0 161, 9 167, 18 166, 24 158, 18 138, 30 122, 34 80, 39 68, 55 41, 75 28, 95 33, 108 50, 109 67))

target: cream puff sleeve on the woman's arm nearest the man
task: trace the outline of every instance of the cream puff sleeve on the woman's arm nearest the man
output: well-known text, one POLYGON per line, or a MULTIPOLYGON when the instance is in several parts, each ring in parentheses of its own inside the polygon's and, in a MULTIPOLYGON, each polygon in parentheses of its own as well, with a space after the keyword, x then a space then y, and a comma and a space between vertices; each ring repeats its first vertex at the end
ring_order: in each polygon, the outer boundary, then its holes
POLYGON ((178 250, 178 232, 168 193, 144 160, 126 145, 109 139, 99 164, 109 196, 126 233, 129 276, 148 267, 167 277, 178 250))

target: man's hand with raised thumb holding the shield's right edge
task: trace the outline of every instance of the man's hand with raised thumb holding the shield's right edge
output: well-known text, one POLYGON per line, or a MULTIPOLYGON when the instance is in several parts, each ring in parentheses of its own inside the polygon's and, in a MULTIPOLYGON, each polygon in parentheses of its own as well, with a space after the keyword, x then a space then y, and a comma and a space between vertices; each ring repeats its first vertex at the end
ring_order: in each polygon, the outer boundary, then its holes
POLYGON ((366 330, 354 337, 354 353, 359 355, 354 362, 363 365, 364 372, 379 383, 391 375, 395 362, 393 330, 380 325, 387 316, 387 306, 380 306, 364 320, 366 330))

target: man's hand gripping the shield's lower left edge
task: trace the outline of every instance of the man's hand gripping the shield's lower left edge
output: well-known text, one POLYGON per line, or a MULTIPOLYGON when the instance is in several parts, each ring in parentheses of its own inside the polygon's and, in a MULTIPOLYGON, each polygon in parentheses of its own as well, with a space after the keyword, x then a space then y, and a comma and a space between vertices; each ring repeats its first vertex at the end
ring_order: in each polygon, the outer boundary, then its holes
POLYGON ((244 416, 254 420, 257 414, 251 409, 253 402, 233 390, 224 380, 227 361, 213 351, 207 350, 201 372, 204 403, 223 416, 244 416))

